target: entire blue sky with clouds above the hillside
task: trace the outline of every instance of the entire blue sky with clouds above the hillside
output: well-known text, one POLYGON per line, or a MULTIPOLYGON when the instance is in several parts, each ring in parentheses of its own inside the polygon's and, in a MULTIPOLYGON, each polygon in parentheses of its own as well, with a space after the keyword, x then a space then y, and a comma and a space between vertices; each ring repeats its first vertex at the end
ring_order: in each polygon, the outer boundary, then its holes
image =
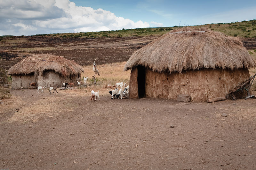
POLYGON ((256 19, 256 0, 0 0, 0 36, 256 19))

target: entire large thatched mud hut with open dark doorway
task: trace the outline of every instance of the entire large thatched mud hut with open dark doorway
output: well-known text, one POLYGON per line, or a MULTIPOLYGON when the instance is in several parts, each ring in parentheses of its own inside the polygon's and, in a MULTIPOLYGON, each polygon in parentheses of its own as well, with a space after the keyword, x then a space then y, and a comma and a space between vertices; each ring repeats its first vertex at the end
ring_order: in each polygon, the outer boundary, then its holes
POLYGON ((256 61, 240 39, 206 28, 172 30, 132 54, 130 97, 192 101, 226 96, 250 77, 256 61))

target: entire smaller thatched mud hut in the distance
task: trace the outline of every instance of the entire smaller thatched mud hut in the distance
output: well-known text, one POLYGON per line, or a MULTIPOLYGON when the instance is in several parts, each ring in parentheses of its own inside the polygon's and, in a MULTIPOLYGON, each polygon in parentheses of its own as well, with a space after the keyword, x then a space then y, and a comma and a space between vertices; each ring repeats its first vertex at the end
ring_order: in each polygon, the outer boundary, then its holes
POLYGON ((36 82, 38 86, 61 87, 62 82, 80 81, 83 68, 74 61, 61 56, 41 54, 32 55, 12 66, 7 74, 12 75, 12 88, 27 89, 29 83, 36 82))

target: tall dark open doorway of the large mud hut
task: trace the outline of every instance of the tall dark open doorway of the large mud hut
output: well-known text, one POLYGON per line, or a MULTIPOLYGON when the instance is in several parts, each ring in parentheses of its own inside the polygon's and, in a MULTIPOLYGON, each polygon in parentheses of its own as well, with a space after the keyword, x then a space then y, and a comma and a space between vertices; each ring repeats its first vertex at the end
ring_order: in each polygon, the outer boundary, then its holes
POLYGON ((146 68, 144 66, 138 66, 138 93, 139 98, 145 97, 145 84, 146 84, 146 68))

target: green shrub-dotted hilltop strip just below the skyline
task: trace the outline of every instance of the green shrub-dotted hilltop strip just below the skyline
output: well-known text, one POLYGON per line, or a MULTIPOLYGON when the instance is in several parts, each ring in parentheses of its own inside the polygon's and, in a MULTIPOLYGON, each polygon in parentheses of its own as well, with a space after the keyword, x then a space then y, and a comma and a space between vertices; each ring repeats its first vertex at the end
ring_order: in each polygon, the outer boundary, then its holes
MULTIPOLYGON (((170 30, 180 28, 182 26, 172 27, 156 27, 156 28, 136 28, 136 29, 122 29, 116 31, 100 31, 100 32, 87 32, 87 33, 53 33, 53 34, 36 34, 33 36, 43 37, 62 37, 62 38, 100 38, 100 37, 130 37, 130 36, 150 36, 150 35, 163 35, 170 30)), ((255 38, 256 37, 256 20, 232 22, 232 23, 217 23, 206 24, 200 26, 189 26, 193 28, 206 27, 214 31, 219 31, 230 36, 255 38)))

